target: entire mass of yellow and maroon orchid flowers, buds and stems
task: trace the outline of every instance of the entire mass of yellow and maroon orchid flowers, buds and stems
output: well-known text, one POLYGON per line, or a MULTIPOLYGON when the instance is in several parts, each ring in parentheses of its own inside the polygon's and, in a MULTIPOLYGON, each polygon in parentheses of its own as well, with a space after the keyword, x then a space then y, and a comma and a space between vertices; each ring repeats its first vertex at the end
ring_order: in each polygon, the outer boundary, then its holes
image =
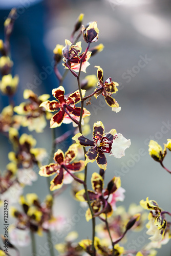
MULTIPOLYGON (((131 205, 126 212, 123 206, 117 206, 117 201, 124 200, 125 192, 125 189, 121 187, 120 177, 113 177, 110 181, 105 180, 105 172, 110 168, 106 154, 120 159, 125 155, 125 150, 131 146, 131 140, 117 133, 113 127, 105 133, 104 125, 99 121, 100 117, 94 123, 92 139, 91 136, 89 137, 91 113, 88 108, 93 96, 95 98, 99 95, 104 96, 106 105, 112 108, 114 115, 121 110, 118 102, 112 97, 112 94, 117 93, 119 84, 111 77, 104 81, 103 70, 100 66, 95 66, 97 77, 89 75, 83 80, 80 79, 81 72, 86 73, 86 69, 90 66, 88 60, 90 61, 92 56, 103 50, 102 44, 91 48, 99 37, 97 23, 91 22, 84 27, 82 25, 84 15, 80 14, 70 40, 65 40, 66 46, 56 45, 54 72, 59 80, 59 86, 55 86, 56 88, 52 90, 55 100, 50 101, 48 94, 37 96, 33 91, 26 89, 24 99, 27 101, 16 106, 13 95, 17 91, 19 79, 17 75, 14 77, 11 75, 13 61, 10 58, 9 41, 14 26, 15 12, 16 10, 12 9, 6 19, 5 40, 0 40, 2 55, 0 58, 2 76, 0 90, 9 97, 9 105, 0 114, 0 132, 9 139, 13 146, 13 151, 8 155, 9 163, 6 170, 0 175, 1 204, 8 203, 10 214, 15 218, 15 223, 9 229, 9 238, 5 236, 2 238, 7 246, 5 249, 0 247, 0 255, 13 255, 12 250, 15 250, 15 255, 20 255, 18 246, 26 247, 29 243, 32 244, 31 255, 39 255, 35 234, 43 236, 46 233, 51 243, 47 253, 49 256, 155 256, 156 248, 160 248, 171 238, 171 222, 166 218, 166 215, 171 216, 170 212, 162 210, 156 201, 148 200, 148 198, 146 201, 141 200, 140 205, 131 205), (80 36, 86 44, 83 52, 81 41, 79 41, 80 36), (63 74, 58 69, 61 61, 65 69, 63 74), (65 95, 63 80, 68 72, 75 77, 78 87, 75 91, 65 95), (88 94, 92 88, 94 92, 88 94), (84 108, 85 102, 87 109, 84 108), (75 106, 77 103, 80 105, 75 106), (51 112, 55 112, 54 115, 51 112), (46 150, 35 147, 36 140, 32 135, 27 133, 20 135, 18 130, 20 126, 24 126, 30 132, 41 133, 49 122, 47 119, 50 119, 50 128, 54 136, 53 159, 43 165, 42 161, 47 156, 46 150), (73 123, 73 129, 56 137, 55 131, 62 123, 66 125, 73 123), (68 146, 66 153, 63 153, 60 148, 55 152, 57 144, 64 142, 71 135, 73 144, 68 146), (91 174, 91 189, 88 188, 87 173, 93 162, 97 163, 99 173, 91 174), (35 193, 24 194, 25 186, 32 185, 32 182, 37 179, 34 168, 39 171, 40 176, 47 179, 49 195, 44 202, 41 202, 35 193), (55 176, 51 180, 52 175, 55 176), (104 181, 107 182, 106 187, 104 181), (87 207, 85 218, 88 222, 92 222, 92 234, 88 238, 74 242, 78 239, 78 234, 72 231, 63 243, 54 244, 53 238, 56 234, 54 232, 62 232, 66 220, 65 213, 62 216, 54 214, 53 202, 69 186, 74 199, 87 207), (13 203, 15 206, 12 205, 13 203), (148 217, 143 209, 149 211, 148 217), (100 224, 97 224, 97 219, 100 224), (135 250, 126 249, 126 234, 130 230, 142 230, 146 219, 148 219, 146 233, 150 236, 151 242, 135 250)), ((168 173, 170 171, 164 167, 163 159, 166 155, 166 148, 171 150, 170 144, 171 140, 168 139, 162 151, 162 147, 157 142, 149 143, 149 154, 154 160, 160 162, 168 173)))

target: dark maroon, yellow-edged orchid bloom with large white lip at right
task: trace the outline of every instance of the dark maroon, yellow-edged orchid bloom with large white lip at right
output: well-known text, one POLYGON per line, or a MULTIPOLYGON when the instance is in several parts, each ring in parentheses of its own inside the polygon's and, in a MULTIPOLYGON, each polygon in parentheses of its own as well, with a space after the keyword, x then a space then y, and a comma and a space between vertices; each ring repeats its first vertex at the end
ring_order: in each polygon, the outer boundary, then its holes
POLYGON ((115 129, 112 129, 109 133, 104 133, 104 125, 101 121, 94 123, 93 140, 87 139, 81 133, 76 134, 72 139, 82 146, 91 146, 90 150, 86 153, 86 165, 96 160, 98 166, 104 170, 107 166, 104 153, 121 158, 125 155, 124 151, 126 148, 131 145, 130 139, 125 139, 115 129))

